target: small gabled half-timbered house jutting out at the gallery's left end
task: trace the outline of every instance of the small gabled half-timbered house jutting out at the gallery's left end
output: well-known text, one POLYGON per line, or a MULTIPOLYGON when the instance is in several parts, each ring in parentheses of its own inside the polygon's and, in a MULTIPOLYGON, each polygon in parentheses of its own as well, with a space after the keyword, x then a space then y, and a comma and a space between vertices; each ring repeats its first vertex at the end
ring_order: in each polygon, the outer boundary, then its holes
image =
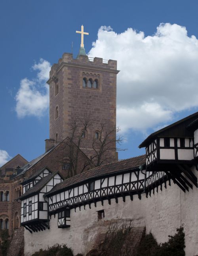
POLYGON ((63 177, 60 173, 52 173, 45 167, 22 183, 25 193, 19 198, 21 200, 21 225, 30 233, 49 228, 48 201, 45 200, 44 194, 62 181, 63 177))

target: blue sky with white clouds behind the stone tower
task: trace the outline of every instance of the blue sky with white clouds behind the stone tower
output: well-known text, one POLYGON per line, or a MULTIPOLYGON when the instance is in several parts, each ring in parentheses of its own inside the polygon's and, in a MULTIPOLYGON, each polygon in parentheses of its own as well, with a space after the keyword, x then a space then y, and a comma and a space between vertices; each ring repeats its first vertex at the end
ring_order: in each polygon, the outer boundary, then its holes
POLYGON ((57 63, 64 52, 71 52, 72 42, 75 57, 80 46, 76 30, 80 30, 82 24, 84 31, 89 32, 84 42, 89 56, 116 58, 118 67, 122 68, 118 75, 118 122, 126 137, 122 147, 128 150, 119 152, 119 158, 144 154, 145 150, 137 146, 148 134, 198 111, 197 13, 196 0, 2 0, 0 153, 3 152, 3 156, 0 156, 0 165, 18 153, 32 160, 44 152, 44 140, 49 138, 48 106, 42 105, 39 115, 34 113, 36 109, 17 115, 17 93, 27 78, 34 83, 31 92, 36 90, 41 97, 46 97, 46 75, 39 73, 44 60, 46 71, 48 62, 57 63), (160 70, 156 69, 158 66, 160 70), (128 78, 130 72, 132 75, 128 78), (175 90, 167 89, 166 93, 166 87, 175 90), (125 100, 125 95, 131 98, 125 100))

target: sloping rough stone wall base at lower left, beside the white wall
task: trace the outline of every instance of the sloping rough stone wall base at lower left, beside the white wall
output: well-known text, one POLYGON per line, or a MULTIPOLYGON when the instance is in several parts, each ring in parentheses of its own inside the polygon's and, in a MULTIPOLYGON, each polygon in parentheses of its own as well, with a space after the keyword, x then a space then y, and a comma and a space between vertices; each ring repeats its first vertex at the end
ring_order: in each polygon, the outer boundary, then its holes
POLYGON ((20 227, 13 231, 7 256, 24 255, 24 229, 20 227))

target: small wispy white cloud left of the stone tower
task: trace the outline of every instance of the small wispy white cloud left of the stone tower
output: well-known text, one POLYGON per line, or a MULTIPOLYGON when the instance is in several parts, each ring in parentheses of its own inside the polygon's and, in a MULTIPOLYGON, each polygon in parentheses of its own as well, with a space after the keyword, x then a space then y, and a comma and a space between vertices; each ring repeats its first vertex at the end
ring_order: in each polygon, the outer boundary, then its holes
POLYGON ((20 82, 16 94, 16 112, 18 117, 34 115, 41 117, 49 107, 49 87, 46 81, 49 78, 50 63, 40 59, 32 69, 37 71, 35 79, 24 78, 20 82))

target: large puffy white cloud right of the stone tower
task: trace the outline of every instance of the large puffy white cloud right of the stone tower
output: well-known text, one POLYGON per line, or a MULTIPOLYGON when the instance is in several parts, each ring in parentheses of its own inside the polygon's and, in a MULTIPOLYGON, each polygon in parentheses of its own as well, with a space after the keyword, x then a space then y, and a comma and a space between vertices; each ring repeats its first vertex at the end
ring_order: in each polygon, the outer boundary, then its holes
POLYGON ((90 57, 118 61, 117 124, 145 131, 198 106, 198 40, 177 24, 160 24, 154 35, 101 27, 90 57))

